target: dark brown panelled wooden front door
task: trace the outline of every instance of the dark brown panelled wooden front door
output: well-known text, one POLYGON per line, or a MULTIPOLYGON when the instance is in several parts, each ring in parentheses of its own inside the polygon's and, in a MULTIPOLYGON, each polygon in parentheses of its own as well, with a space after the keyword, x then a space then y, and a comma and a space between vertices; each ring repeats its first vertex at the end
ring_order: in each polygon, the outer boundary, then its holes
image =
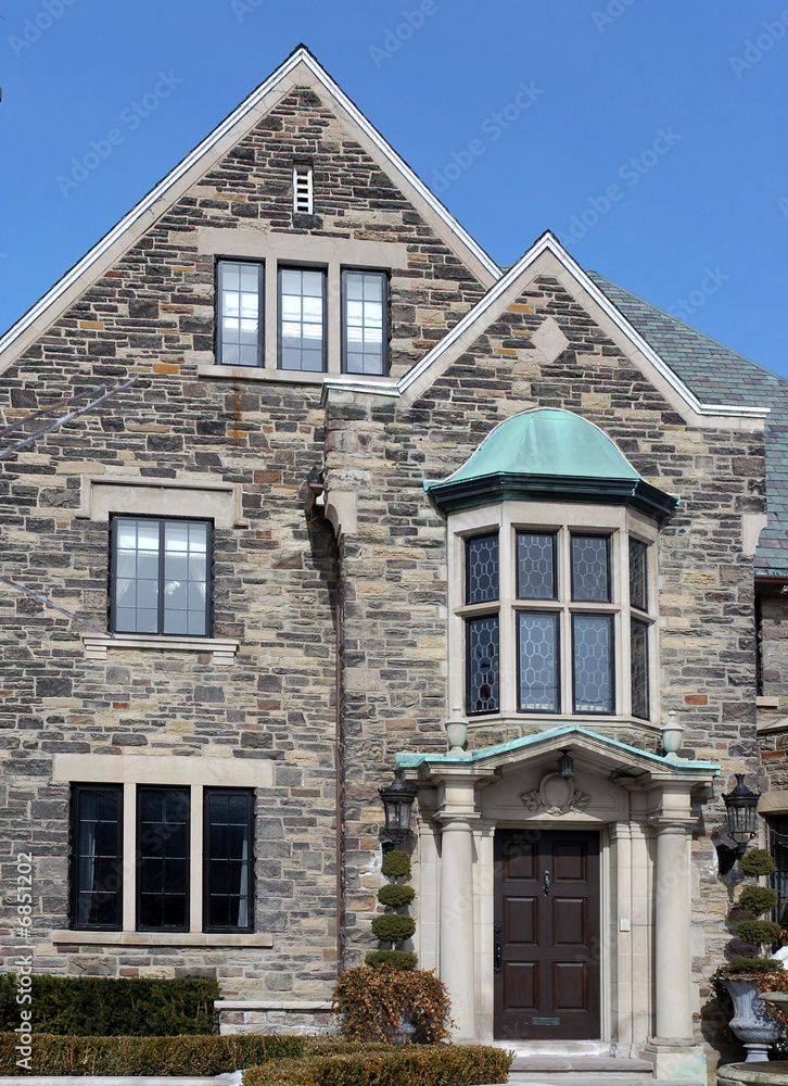
POLYGON ((599 835, 495 834, 495 1036, 597 1038, 599 835))

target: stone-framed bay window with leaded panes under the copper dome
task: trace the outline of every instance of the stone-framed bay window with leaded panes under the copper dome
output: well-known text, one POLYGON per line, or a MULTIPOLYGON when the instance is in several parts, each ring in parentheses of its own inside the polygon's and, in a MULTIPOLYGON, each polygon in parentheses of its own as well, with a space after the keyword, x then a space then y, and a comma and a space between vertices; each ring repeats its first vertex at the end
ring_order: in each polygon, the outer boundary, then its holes
POLYGON ((648 553, 571 526, 466 538, 466 711, 649 719, 648 553))

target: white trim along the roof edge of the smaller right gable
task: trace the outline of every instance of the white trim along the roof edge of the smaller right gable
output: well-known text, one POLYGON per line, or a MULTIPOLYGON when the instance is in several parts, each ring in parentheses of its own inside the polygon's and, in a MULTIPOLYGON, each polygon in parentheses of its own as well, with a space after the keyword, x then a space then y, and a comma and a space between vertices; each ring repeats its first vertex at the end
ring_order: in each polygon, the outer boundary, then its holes
POLYGON ((501 276, 500 279, 495 283, 494 287, 487 291, 484 298, 478 302, 472 310, 459 320, 454 328, 436 343, 431 351, 429 351, 424 357, 414 366, 412 369, 408 370, 404 377, 401 377, 397 381, 397 389, 399 393, 404 393, 414 384, 421 376, 424 374, 430 366, 435 363, 441 355, 447 351, 453 343, 460 339, 475 321, 481 317, 487 310, 490 310, 498 299, 505 293, 508 287, 520 276, 522 273, 532 264, 538 256, 544 252, 550 252, 572 275, 580 283, 581 287, 593 298, 600 310, 602 310, 606 315, 615 324, 615 326, 627 337, 627 339, 633 343, 633 345, 640 351, 641 354, 651 363, 654 369, 664 378, 665 381, 671 386, 671 388, 685 401, 685 403, 691 407, 694 412, 698 415, 729 415, 746 418, 765 418, 770 414, 771 408, 768 407, 750 407, 739 404, 707 404, 701 403, 700 400, 691 392, 684 381, 668 366, 662 358, 657 354, 652 346, 643 338, 643 336, 630 324, 630 321, 624 317, 624 315, 613 305, 610 299, 596 286, 592 279, 585 274, 583 268, 572 260, 567 250, 560 243, 555 235, 550 233, 549 230, 543 233, 541 238, 531 247, 531 249, 525 252, 520 260, 514 264, 506 275, 501 276))

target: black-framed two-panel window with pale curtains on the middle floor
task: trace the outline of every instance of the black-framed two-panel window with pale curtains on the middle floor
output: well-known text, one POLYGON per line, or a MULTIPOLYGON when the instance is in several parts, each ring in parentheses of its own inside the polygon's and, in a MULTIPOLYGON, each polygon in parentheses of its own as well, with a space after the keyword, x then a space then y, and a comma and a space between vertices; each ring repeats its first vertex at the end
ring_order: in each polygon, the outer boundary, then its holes
POLYGON ((209 568, 208 521, 113 517, 112 630, 208 636, 209 568))

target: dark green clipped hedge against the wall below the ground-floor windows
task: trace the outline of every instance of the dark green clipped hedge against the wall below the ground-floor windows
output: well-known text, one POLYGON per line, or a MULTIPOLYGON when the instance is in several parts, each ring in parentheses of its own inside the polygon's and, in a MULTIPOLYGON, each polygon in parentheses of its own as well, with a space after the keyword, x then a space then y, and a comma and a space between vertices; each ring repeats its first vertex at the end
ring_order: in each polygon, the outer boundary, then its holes
MULTIPOLYGON (((33 978, 35 1033, 78 1037, 175 1037, 213 1033, 219 985, 204 976, 33 978)), ((0 975, 0 1032, 20 1024, 16 976, 0 975)))

